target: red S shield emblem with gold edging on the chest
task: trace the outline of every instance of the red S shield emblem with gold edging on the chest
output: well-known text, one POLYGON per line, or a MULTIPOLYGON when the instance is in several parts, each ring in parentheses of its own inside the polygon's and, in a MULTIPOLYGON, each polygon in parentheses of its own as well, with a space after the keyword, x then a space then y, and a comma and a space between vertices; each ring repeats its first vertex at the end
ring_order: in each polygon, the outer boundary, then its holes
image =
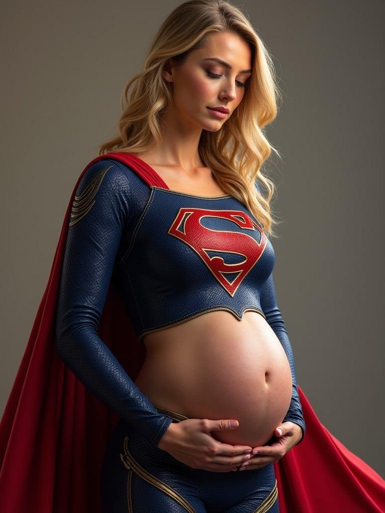
POLYGON ((242 210, 181 208, 168 233, 194 249, 232 297, 247 273, 260 259, 267 242, 263 230, 242 210), (207 228, 201 224, 204 217, 227 219, 235 223, 240 231, 207 228), (249 235, 246 230, 251 230, 252 234, 249 235), (256 230, 259 232, 257 238, 256 230), (210 257, 209 252, 241 255, 242 261, 226 264, 218 255, 210 257))

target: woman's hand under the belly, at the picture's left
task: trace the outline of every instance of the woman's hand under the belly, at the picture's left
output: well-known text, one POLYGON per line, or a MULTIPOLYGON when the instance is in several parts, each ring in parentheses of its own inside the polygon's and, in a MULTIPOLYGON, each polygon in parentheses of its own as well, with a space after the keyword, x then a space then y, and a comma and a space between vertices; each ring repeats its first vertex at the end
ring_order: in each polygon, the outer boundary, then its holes
POLYGON ((186 419, 172 422, 158 447, 191 468, 201 468, 211 472, 237 470, 243 461, 251 456, 249 445, 230 445, 216 440, 210 431, 235 429, 230 420, 186 419), (249 453, 247 453, 249 451, 249 453))

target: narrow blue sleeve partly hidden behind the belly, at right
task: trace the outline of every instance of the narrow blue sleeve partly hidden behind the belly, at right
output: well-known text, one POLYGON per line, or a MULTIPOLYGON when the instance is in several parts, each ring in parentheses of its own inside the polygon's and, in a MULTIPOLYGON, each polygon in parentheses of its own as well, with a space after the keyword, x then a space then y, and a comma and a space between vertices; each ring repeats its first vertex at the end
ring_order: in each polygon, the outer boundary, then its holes
POLYGON ((305 421, 303 419, 302 406, 301 406, 301 402, 299 400, 299 395, 298 395, 297 376, 296 376, 296 370, 295 370, 293 349, 292 349, 290 340, 288 338, 288 334, 286 331, 284 320, 282 318, 281 311, 277 305, 273 274, 271 274, 269 276, 269 278, 267 279, 267 281, 265 282, 265 284, 262 287, 261 307, 262 307, 262 311, 266 317, 266 321, 271 326, 274 333, 276 334, 276 336, 278 337, 279 341, 282 344, 282 347, 286 353, 286 357, 287 357, 287 360, 290 364, 290 368, 292 371, 292 381, 293 381, 292 400, 290 403, 290 407, 286 413, 286 416, 283 419, 283 422, 291 421, 291 422, 295 422, 296 424, 301 426, 302 438, 300 439, 299 442, 297 442, 296 445, 298 445, 303 440, 305 430, 306 430, 306 425, 305 425, 305 421))

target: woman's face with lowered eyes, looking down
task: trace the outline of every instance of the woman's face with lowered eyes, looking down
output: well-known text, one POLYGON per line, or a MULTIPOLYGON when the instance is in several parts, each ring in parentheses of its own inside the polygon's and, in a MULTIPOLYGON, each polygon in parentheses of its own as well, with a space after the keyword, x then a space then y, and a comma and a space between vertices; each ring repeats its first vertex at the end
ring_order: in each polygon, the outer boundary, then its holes
POLYGON ((191 51, 182 66, 170 63, 163 70, 165 80, 173 84, 171 112, 185 123, 219 130, 242 101, 251 58, 248 44, 237 34, 210 34, 206 45, 191 51), (210 110, 213 107, 228 113, 220 117, 210 110))

